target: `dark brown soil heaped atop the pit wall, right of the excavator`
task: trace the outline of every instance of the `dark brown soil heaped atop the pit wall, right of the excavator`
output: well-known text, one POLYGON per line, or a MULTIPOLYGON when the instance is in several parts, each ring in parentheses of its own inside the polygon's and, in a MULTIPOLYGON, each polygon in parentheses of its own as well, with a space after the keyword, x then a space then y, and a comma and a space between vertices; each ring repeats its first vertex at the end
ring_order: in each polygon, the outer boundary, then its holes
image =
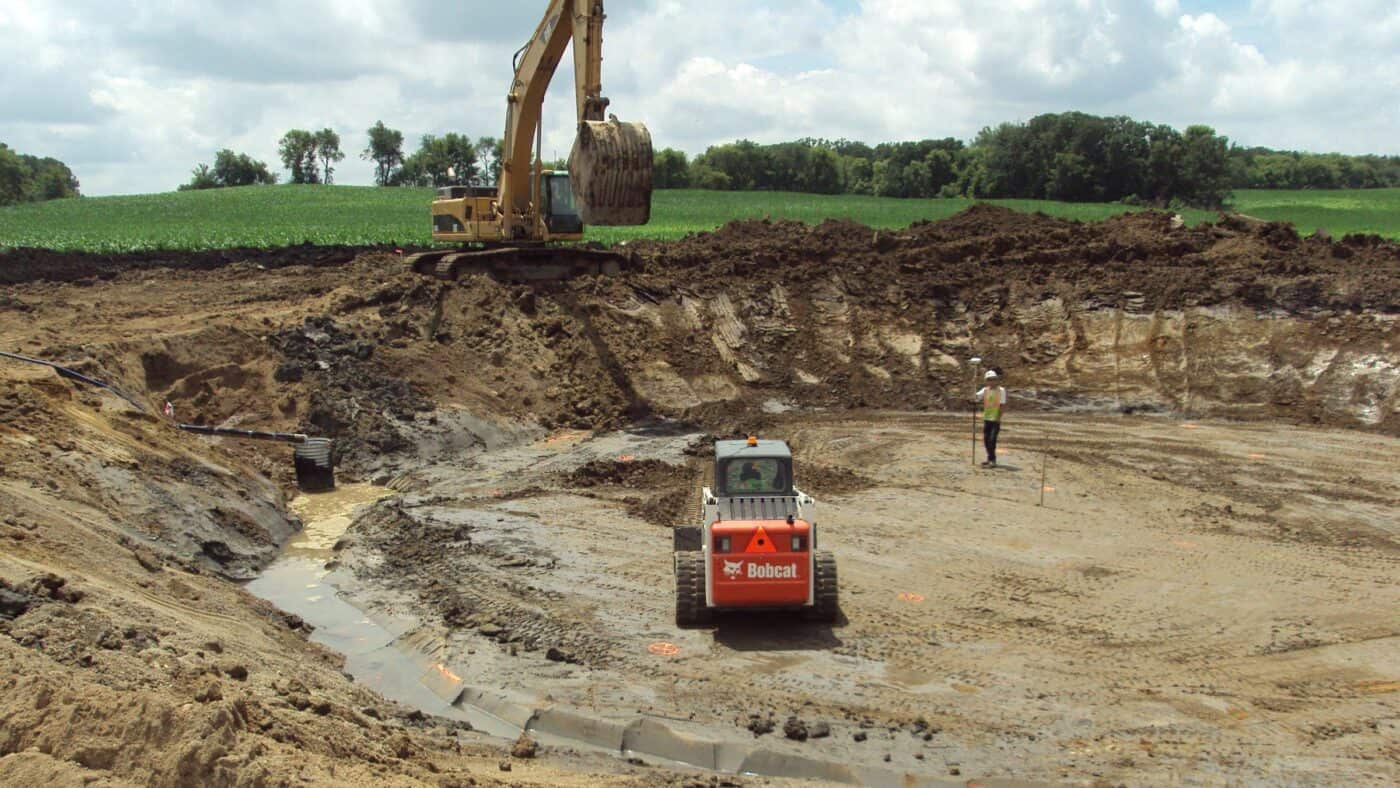
POLYGON ((1400 246, 1379 237, 1303 239, 1288 224, 1232 217, 1175 228, 1170 214, 1156 211, 1079 223, 979 204, 900 232, 837 220, 736 221, 631 248, 651 281, 791 286, 834 273, 855 294, 897 304, 948 301, 966 290, 1004 298, 1021 287, 1072 287, 1105 304, 1131 293, 1147 309, 1239 302, 1310 314, 1400 304, 1400 246))

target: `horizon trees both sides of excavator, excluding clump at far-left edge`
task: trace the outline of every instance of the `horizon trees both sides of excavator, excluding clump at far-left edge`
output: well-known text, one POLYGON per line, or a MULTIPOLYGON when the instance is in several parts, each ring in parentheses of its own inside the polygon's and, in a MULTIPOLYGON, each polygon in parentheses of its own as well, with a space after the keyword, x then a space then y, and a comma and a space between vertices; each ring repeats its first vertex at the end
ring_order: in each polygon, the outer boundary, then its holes
MULTIPOLYGON (((360 157, 374 162, 379 186, 494 185, 501 140, 424 134, 405 151, 398 129, 377 122, 360 157)), ((332 183, 344 160, 332 129, 293 129, 277 146, 291 183, 332 183)), ((549 162, 563 168, 563 162, 549 162)), ((218 151, 181 189, 274 183, 267 165, 218 151)), ((76 182, 74 182, 76 183, 76 182)), ((657 153, 658 189, 718 189, 874 195, 882 197, 1018 197, 1221 207, 1235 189, 1364 189, 1400 186, 1400 157, 1306 154, 1243 148, 1210 126, 1176 130, 1159 123, 1082 112, 1047 113, 1025 123, 953 137, 869 146, 804 139, 711 146, 693 160, 657 153)), ((76 186, 74 186, 76 189, 76 186)))

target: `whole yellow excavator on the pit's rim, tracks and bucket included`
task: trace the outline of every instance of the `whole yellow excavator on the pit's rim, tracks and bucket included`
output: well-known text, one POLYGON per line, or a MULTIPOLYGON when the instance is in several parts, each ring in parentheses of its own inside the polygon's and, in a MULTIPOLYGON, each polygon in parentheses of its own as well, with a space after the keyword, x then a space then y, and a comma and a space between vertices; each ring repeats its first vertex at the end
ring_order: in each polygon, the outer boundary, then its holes
POLYGON ((412 255, 413 270, 441 279, 484 272, 510 280, 617 270, 619 255, 580 245, 584 227, 650 221, 652 147, 641 123, 605 119, 603 18, 602 0, 550 0, 535 35, 515 53, 498 183, 438 189, 433 241, 462 246, 412 255), (568 172, 554 172, 540 165, 540 115, 570 43, 578 134, 568 172))

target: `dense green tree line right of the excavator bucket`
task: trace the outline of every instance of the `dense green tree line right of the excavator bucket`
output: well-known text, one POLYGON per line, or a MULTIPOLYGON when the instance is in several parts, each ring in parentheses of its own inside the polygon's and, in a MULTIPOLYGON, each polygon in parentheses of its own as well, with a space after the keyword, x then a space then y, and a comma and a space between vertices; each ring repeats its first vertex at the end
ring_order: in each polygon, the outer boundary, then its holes
POLYGON ((1400 186, 1400 157, 1231 146, 1210 126, 1050 113, 952 137, 869 146, 804 139, 657 153, 658 189, 785 190, 885 197, 1019 197, 1219 207, 1233 189, 1400 186))

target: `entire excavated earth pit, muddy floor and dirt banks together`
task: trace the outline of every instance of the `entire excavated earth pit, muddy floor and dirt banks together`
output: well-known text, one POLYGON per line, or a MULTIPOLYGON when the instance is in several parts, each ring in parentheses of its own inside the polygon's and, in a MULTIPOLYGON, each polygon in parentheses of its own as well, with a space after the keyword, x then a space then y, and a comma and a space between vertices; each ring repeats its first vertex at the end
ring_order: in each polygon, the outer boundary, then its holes
POLYGON ((0 781, 1400 775, 1396 246, 974 209, 631 252, 0 258, 0 349, 148 411, 0 361, 0 781), (342 488, 167 402, 333 437, 342 488), (836 626, 672 623, 669 528, 748 431, 820 500, 836 626))

